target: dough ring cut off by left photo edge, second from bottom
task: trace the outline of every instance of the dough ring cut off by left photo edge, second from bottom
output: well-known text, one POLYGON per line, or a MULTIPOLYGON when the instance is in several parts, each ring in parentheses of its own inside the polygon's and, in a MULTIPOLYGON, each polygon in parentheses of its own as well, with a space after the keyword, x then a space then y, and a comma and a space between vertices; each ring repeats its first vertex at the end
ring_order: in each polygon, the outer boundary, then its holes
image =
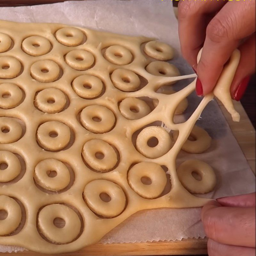
POLYGON ((0 172, 0 182, 8 182, 20 174, 20 161, 13 153, 0 151, 0 164, 7 164, 7 168, 0 172))

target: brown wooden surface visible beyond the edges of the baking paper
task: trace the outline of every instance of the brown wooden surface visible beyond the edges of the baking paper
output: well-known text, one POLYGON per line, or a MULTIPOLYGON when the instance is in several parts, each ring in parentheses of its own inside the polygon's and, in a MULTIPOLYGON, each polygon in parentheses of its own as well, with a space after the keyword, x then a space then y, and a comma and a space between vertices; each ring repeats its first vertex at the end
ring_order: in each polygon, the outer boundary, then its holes
MULTIPOLYGON (((0 6, 24 5, 24 4, 44 4, 53 2, 63 2, 62 0, 2 0, 0 6)), ((244 155, 255 173, 255 75, 249 83, 248 89, 240 102, 235 102, 235 107, 241 115, 239 123, 232 122, 230 115, 224 109, 222 104, 220 108, 228 121, 228 124, 242 148, 244 155), (242 104, 244 106, 242 106, 242 104), (245 110, 244 110, 245 109, 245 110), (248 118, 248 116, 249 118, 248 118), (251 121, 250 121, 251 120, 251 121), (253 124, 253 125, 252 125, 253 124)), ((63 256, 117 256, 117 255, 201 255, 206 253, 206 239, 185 239, 175 242, 151 242, 151 243, 133 243, 133 244, 94 244, 72 253, 61 254, 63 256)), ((9 256, 28 256, 45 255, 34 252, 8 253, 9 256)), ((207 256, 206 254, 204 254, 207 256)), ((203 256, 204 256, 203 255, 203 256)), ((0 255, 1 256, 1 255, 0 255)))

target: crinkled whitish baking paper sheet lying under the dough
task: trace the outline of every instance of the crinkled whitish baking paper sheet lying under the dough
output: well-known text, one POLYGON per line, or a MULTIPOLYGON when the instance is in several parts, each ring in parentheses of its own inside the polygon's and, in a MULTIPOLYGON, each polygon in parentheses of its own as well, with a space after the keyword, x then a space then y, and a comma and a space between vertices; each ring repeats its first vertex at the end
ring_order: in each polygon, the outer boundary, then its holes
MULTIPOLYGON (((181 58, 178 24, 173 14, 172 1, 160 0, 87 0, 25 7, 0 8, 0 19, 19 22, 58 22, 126 35, 157 37, 171 44, 176 56, 171 61, 181 74, 193 73, 181 58)), ((180 81, 174 89, 181 89, 189 81, 180 81)), ((191 115, 200 98, 195 93, 188 97, 189 109, 178 121, 191 115)), ((213 138, 212 146, 203 154, 180 152, 177 166, 188 158, 209 163, 217 174, 214 192, 205 197, 218 198, 250 193, 255 188, 253 175, 216 101, 211 101, 197 125, 213 138)), ((156 209, 134 214, 104 236, 100 243, 133 243, 171 241, 188 237, 204 237, 200 208, 156 209)), ((9 249, 20 250, 17 247, 9 249)), ((7 246, 0 247, 0 251, 7 246)))

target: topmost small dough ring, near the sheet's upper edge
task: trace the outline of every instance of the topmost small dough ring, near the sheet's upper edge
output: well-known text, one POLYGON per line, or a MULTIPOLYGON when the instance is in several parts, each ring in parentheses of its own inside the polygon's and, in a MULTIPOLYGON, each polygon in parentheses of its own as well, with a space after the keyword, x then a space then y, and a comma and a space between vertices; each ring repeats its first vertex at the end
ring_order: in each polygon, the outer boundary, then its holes
POLYGON ((56 32, 56 39, 66 46, 77 46, 84 40, 84 33, 78 28, 65 27, 56 32))

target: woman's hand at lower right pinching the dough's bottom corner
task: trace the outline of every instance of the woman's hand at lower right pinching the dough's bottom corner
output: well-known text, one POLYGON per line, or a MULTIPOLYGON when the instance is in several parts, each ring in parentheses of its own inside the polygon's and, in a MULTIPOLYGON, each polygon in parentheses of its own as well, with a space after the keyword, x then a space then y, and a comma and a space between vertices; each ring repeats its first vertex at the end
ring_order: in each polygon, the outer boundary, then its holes
POLYGON ((255 193, 211 201, 202 221, 209 256, 255 256, 255 193))

